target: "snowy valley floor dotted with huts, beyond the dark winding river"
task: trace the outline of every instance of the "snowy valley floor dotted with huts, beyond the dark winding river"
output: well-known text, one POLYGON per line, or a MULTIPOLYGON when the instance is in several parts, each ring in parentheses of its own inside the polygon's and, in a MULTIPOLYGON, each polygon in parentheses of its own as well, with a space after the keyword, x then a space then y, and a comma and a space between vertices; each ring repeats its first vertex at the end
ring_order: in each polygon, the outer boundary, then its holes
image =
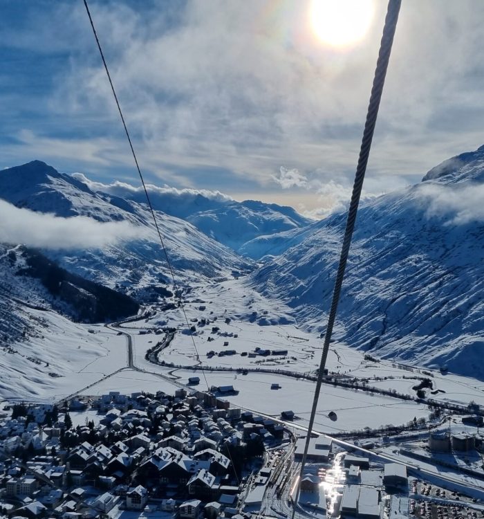
MULTIPOLYGON (((194 340, 186 333, 187 325, 180 309, 157 313, 148 320, 129 324, 133 327, 130 331, 135 334, 133 342, 136 364, 139 367, 153 370, 153 364, 145 360, 145 352, 160 340, 160 336, 149 333, 137 335, 138 331, 156 329, 160 325, 174 326, 179 330, 169 347, 159 356, 159 360, 165 363, 195 366, 198 364, 198 352, 201 364, 208 367, 249 370, 260 367, 310 374, 314 373, 319 365, 322 338, 318 334, 309 334, 301 329, 290 316, 288 307, 274 300, 266 300, 258 293, 250 291, 247 286, 243 286, 239 280, 194 289, 192 298, 185 304, 185 311, 189 325, 196 328, 194 340), (230 322, 226 322, 227 318, 230 322), (201 326, 203 319, 210 322, 201 326), (218 332, 214 333, 212 327, 218 327, 218 332), (208 338, 213 340, 209 341, 208 338), (224 346, 224 343, 228 345, 224 346), (288 354, 249 356, 254 354, 257 347, 271 351, 287 350, 288 354), (236 354, 218 356, 227 349, 235 350, 236 354), (214 356, 209 358, 207 353, 211 351, 214 352, 214 356), (243 353, 247 355, 242 355, 243 353)), ((344 343, 335 342, 331 345, 326 367, 330 372, 366 379, 368 385, 377 388, 394 389, 412 395, 415 394, 413 386, 420 382, 418 377, 429 376, 434 384, 434 392, 438 390, 435 394, 429 392, 429 397, 464 404, 473 400, 484 405, 482 381, 441 374, 428 368, 405 367, 391 361, 375 363, 365 360, 362 352, 344 343)), ((224 374, 219 372, 219 375, 224 374)), ((227 375, 230 378, 230 374, 227 375)))

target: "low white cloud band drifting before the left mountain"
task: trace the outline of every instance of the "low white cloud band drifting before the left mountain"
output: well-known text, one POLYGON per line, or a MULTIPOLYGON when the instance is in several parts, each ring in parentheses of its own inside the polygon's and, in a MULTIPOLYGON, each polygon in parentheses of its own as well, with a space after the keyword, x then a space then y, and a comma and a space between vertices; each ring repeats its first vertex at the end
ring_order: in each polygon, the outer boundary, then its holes
POLYGON ((41 248, 100 248, 142 239, 147 230, 127 221, 99 222, 77 216, 62 218, 17 208, 0 200, 0 242, 41 248))

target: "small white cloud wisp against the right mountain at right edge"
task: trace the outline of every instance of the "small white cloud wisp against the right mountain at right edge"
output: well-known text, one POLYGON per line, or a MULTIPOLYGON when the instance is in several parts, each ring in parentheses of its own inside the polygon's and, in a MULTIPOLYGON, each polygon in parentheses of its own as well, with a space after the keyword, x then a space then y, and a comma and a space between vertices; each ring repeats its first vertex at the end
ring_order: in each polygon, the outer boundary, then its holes
POLYGON ((442 217, 447 225, 456 226, 484 221, 484 184, 424 183, 418 186, 417 196, 428 204, 428 218, 442 217))

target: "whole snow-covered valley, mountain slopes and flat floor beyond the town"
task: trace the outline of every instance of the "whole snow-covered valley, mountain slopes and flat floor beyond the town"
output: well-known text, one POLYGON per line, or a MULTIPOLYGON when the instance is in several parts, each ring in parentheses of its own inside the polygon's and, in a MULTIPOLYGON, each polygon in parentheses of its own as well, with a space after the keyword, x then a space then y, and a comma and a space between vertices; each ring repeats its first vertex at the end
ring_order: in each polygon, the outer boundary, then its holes
MULTIPOLYGON (((447 162, 424 183, 360 210, 326 366, 338 383, 324 384, 317 426, 346 430, 425 416, 426 406, 415 401, 413 390, 424 376, 433 381, 429 397, 484 405, 483 223, 476 204, 466 212, 460 202, 469 190, 482 188, 483 154, 479 149, 447 162), (440 372, 443 367, 449 374, 440 372), (366 387, 345 386, 350 380, 366 387), (330 410, 338 413, 337 424, 328 418, 330 410)), ((187 327, 139 193, 122 198, 113 186, 103 193, 86 177, 59 174, 44 163, 12 169, 0 174, 2 196, 29 215, 34 211, 44 219, 48 212, 62 225, 77 218, 101 226, 125 222, 136 230, 84 249, 39 247, 66 271, 129 295, 144 313, 124 328, 73 324, 66 302, 18 271, 27 253, 15 243, 3 246, 4 399, 174 388, 198 376, 201 385, 234 385, 238 393, 227 398, 244 408, 274 416, 292 409, 306 423, 345 215, 309 223, 287 208, 237 206, 221 194, 184 192, 176 206, 176 192, 158 192, 156 215, 183 289, 187 327), (160 212, 163 203, 172 215, 160 212), (225 230, 216 235, 180 217, 195 224, 223 221, 225 230), (241 221, 252 221, 251 233, 244 235, 241 221), (239 236, 237 244, 227 229, 239 236), (262 262, 234 249, 263 257, 262 262), (163 328, 176 333, 153 363, 147 351, 160 342, 163 328), (131 360, 121 332, 131 336, 131 360)), ((126 186, 122 190, 127 192, 126 186)))

